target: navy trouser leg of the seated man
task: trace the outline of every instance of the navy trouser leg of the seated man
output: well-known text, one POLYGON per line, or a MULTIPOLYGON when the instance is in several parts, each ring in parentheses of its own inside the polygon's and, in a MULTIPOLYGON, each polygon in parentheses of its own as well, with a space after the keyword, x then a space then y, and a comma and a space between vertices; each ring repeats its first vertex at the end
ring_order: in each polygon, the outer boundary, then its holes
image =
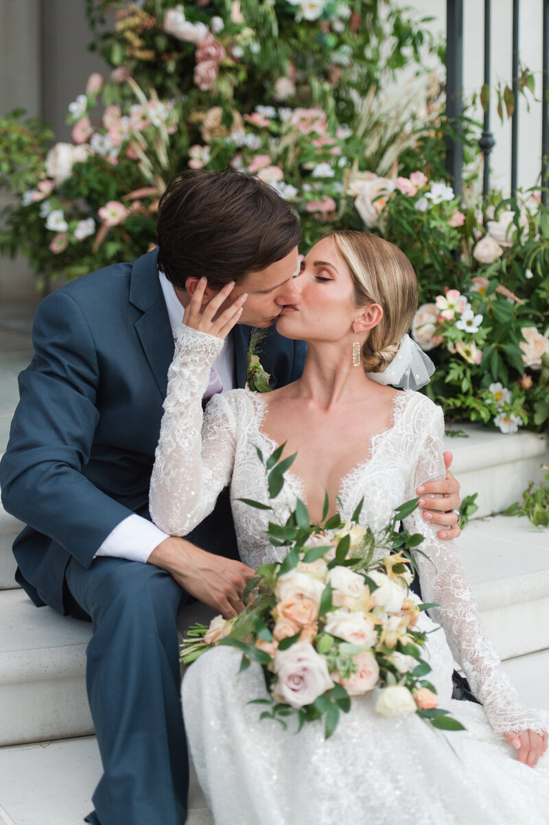
POLYGON ((183 825, 189 763, 176 618, 187 594, 169 573, 125 559, 89 569, 71 559, 66 581, 93 622, 87 696, 104 774, 87 822, 183 825))

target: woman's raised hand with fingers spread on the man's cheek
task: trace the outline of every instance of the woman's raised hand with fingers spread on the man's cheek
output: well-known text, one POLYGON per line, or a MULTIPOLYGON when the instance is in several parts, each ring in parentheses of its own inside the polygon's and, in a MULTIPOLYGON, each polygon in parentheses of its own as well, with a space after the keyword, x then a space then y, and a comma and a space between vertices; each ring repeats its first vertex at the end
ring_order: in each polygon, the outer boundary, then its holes
POLYGON ((183 323, 186 327, 197 329, 199 332, 208 332, 209 335, 226 338, 242 315, 242 307, 246 302, 247 294, 243 292, 242 295, 238 295, 228 307, 221 311, 223 304, 234 289, 234 281, 225 284, 209 299, 206 294, 207 289, 208 280, 200 278, 190 303, 185 308, 183 323))

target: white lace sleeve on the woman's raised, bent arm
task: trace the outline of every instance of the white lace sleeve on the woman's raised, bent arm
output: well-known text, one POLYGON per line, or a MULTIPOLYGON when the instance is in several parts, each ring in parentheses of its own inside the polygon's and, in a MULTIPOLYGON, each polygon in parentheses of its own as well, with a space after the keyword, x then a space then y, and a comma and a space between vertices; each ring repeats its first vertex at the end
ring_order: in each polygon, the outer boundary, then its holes
POLYGON ((206 414, 202 396, 223 340, 181 326, 168 370, 164 415, 152 468, 152 521, 171 535, 185 535, 213 511, 231 479, 235 450, 234 417, 215 395, 206 414))

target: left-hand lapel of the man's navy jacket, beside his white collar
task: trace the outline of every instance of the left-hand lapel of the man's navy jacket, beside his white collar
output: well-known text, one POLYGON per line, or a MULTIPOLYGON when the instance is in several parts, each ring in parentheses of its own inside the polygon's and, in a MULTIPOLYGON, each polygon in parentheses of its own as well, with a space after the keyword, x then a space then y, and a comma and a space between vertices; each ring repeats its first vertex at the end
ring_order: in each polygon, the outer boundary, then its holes
POLYGON ((158 250, 155 249, 134 262, 129 303, 143 312, 134 324, 135 332, 162 398, 166 398, 167 370, 173 358, 174 342, 166 302, 157 276, 157 257, 158 250))

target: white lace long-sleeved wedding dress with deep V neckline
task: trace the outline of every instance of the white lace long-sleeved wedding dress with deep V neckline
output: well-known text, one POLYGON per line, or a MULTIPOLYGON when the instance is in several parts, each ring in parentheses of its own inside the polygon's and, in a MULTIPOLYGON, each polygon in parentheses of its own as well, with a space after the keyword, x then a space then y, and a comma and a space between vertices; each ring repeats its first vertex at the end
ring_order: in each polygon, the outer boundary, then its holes
MULTIPOLYGON (((231 484, 232 508, 242 561, 251 567, 279 560, 265 540, 269 515, 239 497, 267 501, 265 473, 256 446, 275 449, 261 430, 265 401, 247 390, 214 396, 204 426, 201 398, 209 365, 222 342, 181 328, 171 365, 166 413, 152 474, 152 516, 164 530, 185 535, 213 509, 231 484)), ((373 437, 341 479, 342 515, 350 517, 361 497, 360 521, 375 530, 392 509, 415 497, 417 484, 444 475, 443 417, 415 392, 397 395, 392 427, 373 437)), ((286 474, 276 499, 284 522, 296 497, 305 499, 300 479, 286 474)), ((406 526, 428 533, 418 555, 424 601, 439 604, 431 618, 421 614, 429 634, 429 676, 441 706, 467 728, 435 730, 415 714, 383 719, 373 711, 375 691, 353 700, 336 733, 324 739, 320 723, 294 725, 259 720, 265 695, 258 666, 238 675, 241 654, 216 648, 185 675, 185 725, 199 781, 216 825, 541 825, 549 823, 549 757, 535 769, 520 764, 501 733, 547 726, 547 714, 524 707, 500 671, 499 658, 482 628, 455 544, 440 541, 415 512, 406 526), (442 629, 434 624, 442 625, 442 629), (453 658, 461 663, 483 707, 451 699, 453 658)), ((527 632, 527 629, 524 629, 527 632)))

